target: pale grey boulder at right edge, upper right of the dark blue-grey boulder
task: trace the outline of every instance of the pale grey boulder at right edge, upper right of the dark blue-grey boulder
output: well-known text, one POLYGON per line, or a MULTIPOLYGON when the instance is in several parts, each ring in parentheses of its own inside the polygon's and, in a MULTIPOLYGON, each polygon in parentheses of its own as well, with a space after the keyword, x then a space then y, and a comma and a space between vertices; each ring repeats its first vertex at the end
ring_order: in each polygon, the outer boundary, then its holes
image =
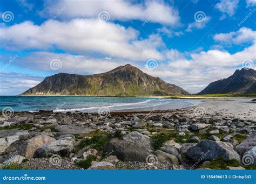
POLYGON ((242 143, 237 145, 237 147, 235 147, 235 151, 237 151, 240 155, 243 155, 248 148, 253 146, 256 146, 256 131, 242 141, 242 143))

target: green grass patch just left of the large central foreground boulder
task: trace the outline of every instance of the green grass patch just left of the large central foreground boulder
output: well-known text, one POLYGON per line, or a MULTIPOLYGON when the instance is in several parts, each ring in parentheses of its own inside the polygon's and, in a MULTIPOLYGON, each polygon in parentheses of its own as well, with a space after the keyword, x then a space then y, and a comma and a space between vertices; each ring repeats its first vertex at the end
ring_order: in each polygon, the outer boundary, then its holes
POLYGON ((80 140, 77 148, 81 150, 86 146, 90 146, 91 148, 95 148, 96 150, 103 150, 109 140, 109 135, 95 135, 92 138, 84 138, 80 140))

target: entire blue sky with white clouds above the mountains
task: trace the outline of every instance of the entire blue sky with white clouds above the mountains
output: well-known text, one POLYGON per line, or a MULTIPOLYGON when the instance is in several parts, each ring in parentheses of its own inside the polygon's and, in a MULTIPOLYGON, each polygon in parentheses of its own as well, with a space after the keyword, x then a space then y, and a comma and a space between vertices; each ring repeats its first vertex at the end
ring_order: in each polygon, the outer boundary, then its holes
POLYGON ((126 63, 198 93, 256 69, 256 0, 1 0, 0 45, 0 95, 126 63))

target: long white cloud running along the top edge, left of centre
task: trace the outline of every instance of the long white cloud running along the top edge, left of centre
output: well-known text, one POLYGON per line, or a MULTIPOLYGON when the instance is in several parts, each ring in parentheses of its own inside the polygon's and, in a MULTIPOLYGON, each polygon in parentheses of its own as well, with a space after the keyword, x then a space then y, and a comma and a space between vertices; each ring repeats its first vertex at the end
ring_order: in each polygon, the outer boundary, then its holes
POLYGON ((135 4, 124 0, 112 1, 49 1, 40 12, 42 16, 53 17, 58 9, 65 7, 60 18, 97 18, 98 14, 106 11, 110 20, 142 20, 150 19, 150 22, 177 25, 179 13, 173 6, 163 1, 146 1, 135 4))

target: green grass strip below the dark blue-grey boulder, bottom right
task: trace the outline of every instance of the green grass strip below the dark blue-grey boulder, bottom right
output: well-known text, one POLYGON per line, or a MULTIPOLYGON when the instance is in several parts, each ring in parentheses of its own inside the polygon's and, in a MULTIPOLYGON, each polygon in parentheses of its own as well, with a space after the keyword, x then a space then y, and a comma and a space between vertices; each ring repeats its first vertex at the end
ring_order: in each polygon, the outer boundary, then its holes
POLYGON ((235 159, 228 160, 221 157, 208 161, 206 164, 203 164, 199 167, 207 167, 211 169, 228 169, 227 166, 231 166, 231 167, 241 166, 246 169, 256 169, 256 167, 253 167, 253 166, 243 166, 240 164, 238 160, 235 160, 235 159))

